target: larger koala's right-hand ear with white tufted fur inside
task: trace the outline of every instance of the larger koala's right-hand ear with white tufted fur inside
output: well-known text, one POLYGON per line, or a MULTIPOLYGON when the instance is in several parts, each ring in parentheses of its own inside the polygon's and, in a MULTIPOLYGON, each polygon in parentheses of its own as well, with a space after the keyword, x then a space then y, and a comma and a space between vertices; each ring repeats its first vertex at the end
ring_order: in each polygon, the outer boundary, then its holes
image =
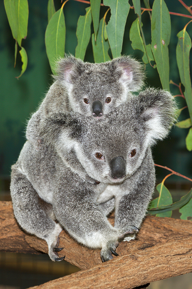
POLYGON ((144 121, 149 143, 165 138, 176 120, 176 102, 166 90, 147 88, 138 96, 140 117, 144 121))

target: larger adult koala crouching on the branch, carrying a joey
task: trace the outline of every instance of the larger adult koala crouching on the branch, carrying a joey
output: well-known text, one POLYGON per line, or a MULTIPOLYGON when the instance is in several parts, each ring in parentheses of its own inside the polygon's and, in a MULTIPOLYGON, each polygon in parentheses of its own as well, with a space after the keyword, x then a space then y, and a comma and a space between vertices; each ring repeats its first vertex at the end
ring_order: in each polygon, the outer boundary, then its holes
POLYGON ((10 190, 18 223, 46 240, 51 260, 63 259, 57 253, 63 228, 100 248, 103 262, 118 255, 119 242, 135 238, 155 186, 151 145, 168 135, 175 111, 169 92, 148 88, 99 121, 74 112, 45 117, 41 147, 26 141, 10 190), (114 227, 107 219, 113 209, 114 227))

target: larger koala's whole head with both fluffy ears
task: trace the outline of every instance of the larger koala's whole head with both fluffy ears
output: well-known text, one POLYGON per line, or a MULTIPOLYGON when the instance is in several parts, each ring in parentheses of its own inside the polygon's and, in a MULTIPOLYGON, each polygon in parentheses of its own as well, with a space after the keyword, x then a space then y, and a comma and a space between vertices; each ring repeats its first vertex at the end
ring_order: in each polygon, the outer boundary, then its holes
POLYGON ((93 179, 119 183, 139 168, 151 144, 168 134, 175 108, 169 92, 150 88, 97 122, 81 114, 54 115, 45 121, 42 138, 64 162, 73 150, 93 179))

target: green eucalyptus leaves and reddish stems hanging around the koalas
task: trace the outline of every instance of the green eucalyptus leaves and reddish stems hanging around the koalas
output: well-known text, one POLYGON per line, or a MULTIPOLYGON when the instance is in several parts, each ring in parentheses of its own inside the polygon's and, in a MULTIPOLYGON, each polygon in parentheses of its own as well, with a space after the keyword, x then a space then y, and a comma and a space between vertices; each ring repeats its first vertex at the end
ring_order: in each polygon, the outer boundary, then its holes
MULTIPOLYGON (((54 64, 56 60, 60 57, 64 57, 65 53, 66 29, 63 9, 67 1, 69 0, 62 3, 61 8, 56 11, 54 0, 48 0, 48 24, 45 32, 45 46, 53 74, 55 73, 54 64)), ((180 95, 177 96, 185 98, 189 110, 189 118, 184 121, 180 121, 175 125, 180 128, 189 128, 189 133, 186 138, 186 147, 189 151, 192 151, 192 90, 189 71, 191 38, 186 31, 187 26, 192 21, 191 7, 187 6, 183 0, 178 0, 181 5, 186 8, 187 13, 179 14, 169 12, 164 0, 154 0, 152 8, 149 6, 149 0, 144 0, 145 8, 141 8, 140 0, 132 0, 133 6, 130 6, 128 0, 103 0, 103 4, 101 3, 101 0, 91 0, 90 2, 84 0, 76 1, 88 4, 88 7, 85 9, 85 15, 80 16, 77 23, 76 35, 78 44, 75 50, 76 57, 84 60, 85 52, 90 39, 92 42, 92 51, 95 62, 108 61, 111 59, 109 55, 111 55, 113 58, 121 55, 126 21, 129 17, 130 9, 134 9, 136 19, 132 22, 129 31, 132 48, 142 51, 142 61, 145 64, 149 63, 153 68, 157 68, 162 88, 166 90, 170 89, 170 83, 174 84, 169 79, 168 45, 171 35, 170 14, 178 15, 178 21, 179 17, 191 18, 183 30, 177 32, 178 43, 176 47, 176 61, 181 83, 179 85, 174 85, 178 86, 180 90, 180 95), (103 17, 100 13, 101 5, 105 8, 103 17), (111 16, 107 22, 106 18, 107 16, 109 17, 109 13, 111 13, 111 16), (147 25, 145 21, 142 23, 143 13, 149 13, 151 20, 151 43, 148 44, 146 44, 145 33, 143 32, 143 27, 147 25), (91 28, 92 21, 94 33, 92 33, 91 28), (184 92, 182 91, 181 84, 185 87, 184 92)), ((21 74, 18 76, 20 77, 27 67, 27 54, 24 47, 22 47, 22 39, 25 39, 27 36, 28 1, 4 0, 4 5, 13 38, 16 40, 15 62, 18 46, 21 48, 20 55, 23 64, 21 74)), ((178 110, 178 116, 183 109, 184 108, 178 110)), ((172 173, 167 175, 162 183, 157 186, 159 197, 151 202, 149 213, 157 214, 158 216, 171 216, 172 210, 180 208, 180 212, 182 214, 181 218, 187 219, 188 216, 191 216, 192 190, 190 190, 187 195, 183 196, 180 201, 173 203, 172 196, 165 187, 164 181, 167 179, 167 177, 173 174, 181 177, 185 176, 180 175, 171 169, 168 170, 170 170, 172 173)), ((187 179, 192 181, 189 178, 187 179)))

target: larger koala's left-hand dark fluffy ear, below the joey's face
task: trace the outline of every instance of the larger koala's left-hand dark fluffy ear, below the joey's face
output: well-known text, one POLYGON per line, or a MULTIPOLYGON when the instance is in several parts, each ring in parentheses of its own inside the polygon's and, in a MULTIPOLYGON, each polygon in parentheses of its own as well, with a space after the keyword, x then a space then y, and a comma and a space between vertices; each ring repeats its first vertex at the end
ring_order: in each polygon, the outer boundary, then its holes
POLYGON ((48 147, 56 148, 64 136, 63 142, 66 142, 66 146, 68 146, 68 142, 74 142, 81 138, 83 118, 84 116, 78 113, 52 114, 41 122, 39 138, 48 147))

